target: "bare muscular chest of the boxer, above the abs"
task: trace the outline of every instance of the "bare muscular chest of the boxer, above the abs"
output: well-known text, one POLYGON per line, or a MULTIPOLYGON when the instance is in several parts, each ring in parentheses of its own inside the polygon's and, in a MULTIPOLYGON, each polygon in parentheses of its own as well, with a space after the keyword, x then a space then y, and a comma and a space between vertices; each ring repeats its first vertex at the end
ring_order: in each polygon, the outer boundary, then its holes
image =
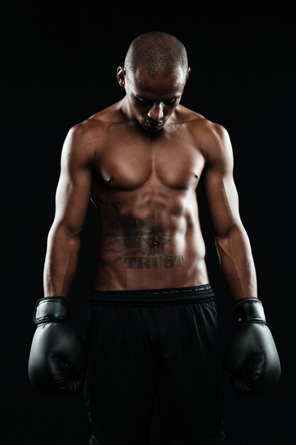
POLYGON ((109 141, 94 164, 98 179, 117 190, 134 190, 154 183, 175 189, 195 188, 204 157, 182 137, 157 140, 122 138, 109 141))

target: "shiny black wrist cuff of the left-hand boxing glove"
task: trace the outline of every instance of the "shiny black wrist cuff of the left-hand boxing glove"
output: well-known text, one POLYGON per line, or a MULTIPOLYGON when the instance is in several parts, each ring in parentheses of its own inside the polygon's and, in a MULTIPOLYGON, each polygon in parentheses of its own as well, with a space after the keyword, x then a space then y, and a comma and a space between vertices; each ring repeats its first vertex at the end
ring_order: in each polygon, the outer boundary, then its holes
POLYGON ((35 304, 35 323, 48 321, 70 321, 70 302, 64 296, 45 296, 35 304))

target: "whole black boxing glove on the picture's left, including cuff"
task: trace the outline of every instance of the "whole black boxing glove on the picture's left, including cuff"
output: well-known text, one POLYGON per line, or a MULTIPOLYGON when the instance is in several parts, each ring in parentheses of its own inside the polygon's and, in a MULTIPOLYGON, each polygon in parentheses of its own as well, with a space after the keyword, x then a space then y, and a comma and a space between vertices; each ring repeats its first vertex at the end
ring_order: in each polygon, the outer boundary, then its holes
POLYGON ((31 385, 48 395, 70 397, 84 384, 87 349, 70 324, 70 302, 63 296, 39 299, 37 323, 28 360, 31 385))

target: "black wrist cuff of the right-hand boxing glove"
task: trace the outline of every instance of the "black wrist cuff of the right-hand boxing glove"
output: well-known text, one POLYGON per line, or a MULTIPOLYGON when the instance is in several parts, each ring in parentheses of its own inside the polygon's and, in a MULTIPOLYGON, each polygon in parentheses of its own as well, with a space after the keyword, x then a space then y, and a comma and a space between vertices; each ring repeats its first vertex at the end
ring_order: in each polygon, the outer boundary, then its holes
POLYGON ((258 298, 239 299, 234 304, 234 316, 237 324, 243 322, 266 323, 263 305, 258 298))

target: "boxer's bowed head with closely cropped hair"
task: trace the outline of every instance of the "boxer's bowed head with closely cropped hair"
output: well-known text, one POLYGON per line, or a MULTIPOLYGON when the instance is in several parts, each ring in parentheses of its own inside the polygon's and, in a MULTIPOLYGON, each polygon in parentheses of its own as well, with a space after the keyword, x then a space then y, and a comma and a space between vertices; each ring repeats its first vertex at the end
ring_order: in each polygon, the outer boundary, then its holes
POLYGON ((148 132, 158 132, 180 103, 190 74, 183 43, 169 33, 150 31, 135 38, 124 67, 117 68, 128 112, 148 132))

